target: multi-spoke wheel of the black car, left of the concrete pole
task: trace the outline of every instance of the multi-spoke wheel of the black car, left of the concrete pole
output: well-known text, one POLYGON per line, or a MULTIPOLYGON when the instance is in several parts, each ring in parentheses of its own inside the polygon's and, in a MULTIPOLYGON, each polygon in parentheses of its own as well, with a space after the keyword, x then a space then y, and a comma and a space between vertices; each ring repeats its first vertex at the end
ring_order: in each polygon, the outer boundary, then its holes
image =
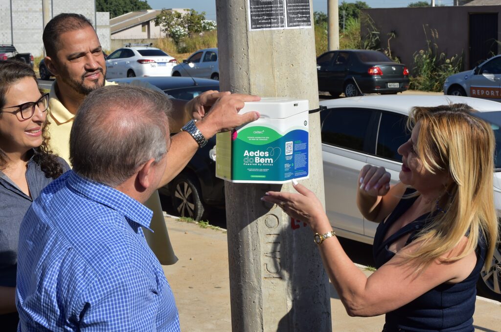
POLYGON ((172 205, 179 216, 200 220, 205 209, 198 181, 190 174, 181 173, 172 184, 172 205))

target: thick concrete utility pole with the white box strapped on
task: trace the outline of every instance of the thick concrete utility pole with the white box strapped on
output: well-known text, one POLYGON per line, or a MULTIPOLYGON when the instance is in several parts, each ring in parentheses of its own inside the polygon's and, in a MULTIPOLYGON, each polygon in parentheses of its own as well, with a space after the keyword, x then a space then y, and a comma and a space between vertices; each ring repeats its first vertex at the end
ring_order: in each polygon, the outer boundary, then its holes
MULTIPOLYGON (((216 0, 221 90, 308 99, 317 109, 314 29, 250 30, 249 2, 264 20, 279 15, 264 1, 216 0)), ((303 5, 313 25, 311 0, 303 5)), ((301 182, 324 201, 319 113, 309 122, 310 177, 301 182)), ((261 201, 268 190, 295 191, 292 184, 225 182, 232 330, 331 331, 329 280, 314 234, 261 201)))

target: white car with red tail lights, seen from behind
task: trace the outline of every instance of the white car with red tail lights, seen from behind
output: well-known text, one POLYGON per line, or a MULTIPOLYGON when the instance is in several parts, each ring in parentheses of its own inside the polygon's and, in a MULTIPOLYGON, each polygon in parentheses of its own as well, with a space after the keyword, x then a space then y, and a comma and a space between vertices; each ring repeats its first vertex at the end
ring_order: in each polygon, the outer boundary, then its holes
POLYGON ((125 46, 106 57, 106 78, 170 76, 177 61, 151 46, 125 46))

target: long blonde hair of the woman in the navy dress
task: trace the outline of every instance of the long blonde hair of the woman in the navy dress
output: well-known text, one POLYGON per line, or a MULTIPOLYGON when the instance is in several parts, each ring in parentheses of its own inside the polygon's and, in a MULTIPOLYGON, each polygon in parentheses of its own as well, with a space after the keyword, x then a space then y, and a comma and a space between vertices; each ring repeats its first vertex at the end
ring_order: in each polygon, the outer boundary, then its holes
POLYGON ((432 173, 446 171, 452 179, 440 198, 444 213, 435 213, 416 238, 423 245, 408 255, 420 267, 435 259, 454 261, 468 255, 480 233, 487 244, 487 265, 499 236, 492 183, 495 138, 490 125, 471 112, 466 104, 450 104, 414 107, 409 113, 409 129, 421 123, 416 145, 424 167, 432 173), (444 259, 465 234, 462 252, 444 259))

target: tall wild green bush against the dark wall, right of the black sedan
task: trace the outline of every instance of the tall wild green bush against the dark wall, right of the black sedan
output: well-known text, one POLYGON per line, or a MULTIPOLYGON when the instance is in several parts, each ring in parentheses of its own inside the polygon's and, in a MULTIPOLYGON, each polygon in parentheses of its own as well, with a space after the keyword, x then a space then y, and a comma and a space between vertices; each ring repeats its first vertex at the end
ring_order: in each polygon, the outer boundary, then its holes
POLYGON ((461 70, 462 54, 447 58, 444 52, 439 53, 436 43, 438 32, 436 29, 430 29, 430 31, 433 41, 428 39, 424 30, 427 47, 414 53, 414 76, 411 77, 410 88, 438 92, 442 90, 445 78, 461 70))

